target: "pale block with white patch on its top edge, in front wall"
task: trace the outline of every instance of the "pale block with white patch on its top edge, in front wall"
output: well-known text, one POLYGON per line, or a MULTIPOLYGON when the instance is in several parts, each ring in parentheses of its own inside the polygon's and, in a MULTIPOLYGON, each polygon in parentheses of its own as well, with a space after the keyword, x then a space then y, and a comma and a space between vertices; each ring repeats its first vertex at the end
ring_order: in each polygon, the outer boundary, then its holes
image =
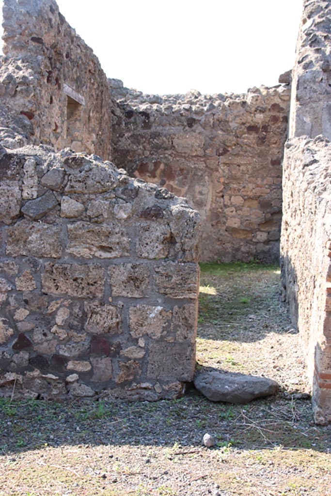
POLYGON ((130 334, 133 338, 147 334, 153 339, 158 339, 167 333, 170 319, 171 311, 166 311, 163 307, 151 307, 149 305, 130 307, 130 334))

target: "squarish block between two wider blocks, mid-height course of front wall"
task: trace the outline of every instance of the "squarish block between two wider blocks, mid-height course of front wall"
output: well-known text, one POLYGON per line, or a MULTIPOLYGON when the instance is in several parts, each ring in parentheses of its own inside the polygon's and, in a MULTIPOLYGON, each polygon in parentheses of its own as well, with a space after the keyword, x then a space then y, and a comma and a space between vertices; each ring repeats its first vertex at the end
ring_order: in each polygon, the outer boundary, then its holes
POLYGON ((121 263, 108 268, 112 296, 142 298, 148 295, 150 271, 143 263, 121 263))

